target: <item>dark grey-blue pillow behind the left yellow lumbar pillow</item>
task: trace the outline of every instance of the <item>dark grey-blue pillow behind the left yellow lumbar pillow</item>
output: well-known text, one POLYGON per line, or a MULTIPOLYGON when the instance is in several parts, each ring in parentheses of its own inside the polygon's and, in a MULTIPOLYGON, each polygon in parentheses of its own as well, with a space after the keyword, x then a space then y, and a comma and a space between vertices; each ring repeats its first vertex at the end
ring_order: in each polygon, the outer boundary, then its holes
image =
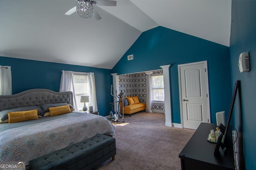
POLYGON ((4 121, 8 119, 8 112, 13 112, 13 111, 29 111, 29 110, 34 110, 37 109, 37 114, 43 116, 44 111, 38 107, 38 106, 27 106, 27 107, 17 107, 15 109, 8 109, 8 110, 2 110, 0 111, 0 119, 1 121, 4 121))

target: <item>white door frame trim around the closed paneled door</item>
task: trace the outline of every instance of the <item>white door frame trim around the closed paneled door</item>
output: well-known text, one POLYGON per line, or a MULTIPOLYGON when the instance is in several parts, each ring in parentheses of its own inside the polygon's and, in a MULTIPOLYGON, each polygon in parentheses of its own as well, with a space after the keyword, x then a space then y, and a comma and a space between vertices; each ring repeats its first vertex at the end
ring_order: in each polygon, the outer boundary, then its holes
POLYGON ((199 61, 194 63, 186 63, 186 64, 178 64, 178 82, 179 82, 179 96, 180 96, 180 121, 181 121, 181 128, 183 128, 183 111, 182 111, 182 96, 181 96, 181 82, 180 82, 180 67, 181 66, 188 66, 192 64, 204 64, 205 72, 206 72, 206 92, 208 94, 207 97, 207 104, 208 104, 208 119, 209 123, 211 122, 211 114, 210 114, 210 93, 209 93, 209 81, 208 81, 208 64, 207 61, 199 61))

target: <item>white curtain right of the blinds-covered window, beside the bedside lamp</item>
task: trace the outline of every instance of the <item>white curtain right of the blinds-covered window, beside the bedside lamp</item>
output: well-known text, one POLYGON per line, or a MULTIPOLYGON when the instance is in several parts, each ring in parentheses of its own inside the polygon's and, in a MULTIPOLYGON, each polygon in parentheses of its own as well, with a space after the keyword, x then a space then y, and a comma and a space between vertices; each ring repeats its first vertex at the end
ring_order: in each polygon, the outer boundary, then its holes
POLYGON ((94 73, 90 72, 88 77, 89 77, 89 96, 90 96, 89 106, 92 106, 94 111, 98 111, 94 73))

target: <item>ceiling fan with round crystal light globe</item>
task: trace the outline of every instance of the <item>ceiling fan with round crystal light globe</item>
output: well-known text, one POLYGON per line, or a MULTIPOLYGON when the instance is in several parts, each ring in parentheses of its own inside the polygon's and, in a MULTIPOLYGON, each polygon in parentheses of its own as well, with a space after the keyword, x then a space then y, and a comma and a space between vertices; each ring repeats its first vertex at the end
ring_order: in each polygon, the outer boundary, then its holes
POLYGON ((116 1, 114 0, 77 0, 76 6, 74 8, 71 8, 68 10, 68 12, 65 13, 65 15, 71 15, 74 12, 78 14, 78 16, 82 18, 96 18, 96 20, 100 20, 101 17, 96 12, 95 9, 93 9, 92 5, 102 5, 102 6, 116 6, 116 1))

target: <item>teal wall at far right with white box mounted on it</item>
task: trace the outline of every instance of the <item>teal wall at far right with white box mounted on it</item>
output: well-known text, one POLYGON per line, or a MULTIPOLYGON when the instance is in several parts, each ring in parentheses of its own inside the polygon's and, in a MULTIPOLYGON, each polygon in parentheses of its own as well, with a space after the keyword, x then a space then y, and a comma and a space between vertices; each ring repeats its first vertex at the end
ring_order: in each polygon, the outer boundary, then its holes
MULTIPOLYGON (((247 170, 256 169, 256 1, 232 0, 232 23, 230 35, 230 63, 232 88, 236 80, 241 80, 242 127, 244 139, 244 158, 247 170), (250 53, 250 72, 238 70, 240 53, 250 53)), ((233 113, 235 126, 238 126, 238 107, 233 113)))

